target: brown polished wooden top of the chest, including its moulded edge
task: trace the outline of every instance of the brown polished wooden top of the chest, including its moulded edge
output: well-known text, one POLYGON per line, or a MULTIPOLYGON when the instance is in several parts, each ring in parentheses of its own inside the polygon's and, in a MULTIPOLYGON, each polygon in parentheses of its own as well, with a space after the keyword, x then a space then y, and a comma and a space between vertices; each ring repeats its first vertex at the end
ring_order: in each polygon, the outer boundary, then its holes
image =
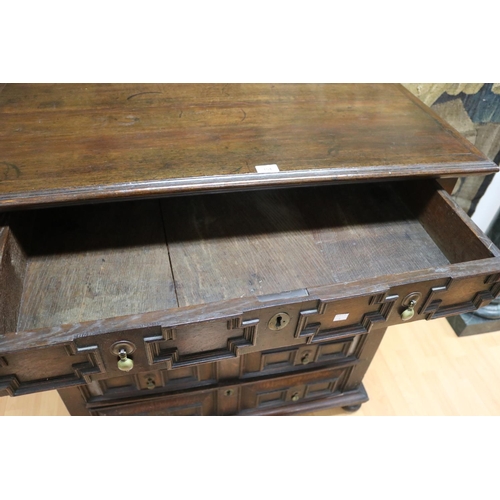
POLYGON ((497 170, 422 106, 391 84, 9 84, 0 207, 497 170))

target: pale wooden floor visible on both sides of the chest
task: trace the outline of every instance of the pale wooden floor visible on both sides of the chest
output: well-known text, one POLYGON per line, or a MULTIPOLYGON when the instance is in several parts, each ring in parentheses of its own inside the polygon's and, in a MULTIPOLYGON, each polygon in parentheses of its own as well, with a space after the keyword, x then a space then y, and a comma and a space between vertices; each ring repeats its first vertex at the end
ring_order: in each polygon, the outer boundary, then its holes
MULTIPOLYGON (((500 332, 459 338, 445 319, 391 327, 365 377, 370 401, 353 414, 500 415, 500 332)), ((0 415, 68 415, 57 392, 0 398, 0 415)))

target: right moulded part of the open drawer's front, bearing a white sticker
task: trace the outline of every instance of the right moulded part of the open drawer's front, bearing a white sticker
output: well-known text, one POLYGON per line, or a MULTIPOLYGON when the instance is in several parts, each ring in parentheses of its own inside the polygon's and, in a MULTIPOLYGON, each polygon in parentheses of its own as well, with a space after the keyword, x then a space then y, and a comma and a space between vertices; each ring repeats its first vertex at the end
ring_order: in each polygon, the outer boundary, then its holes
POLYGON ((475 311, 500 295, 500 274, 415 280, 344 300, 320 293, 315 308, 300 311, 295 333, 311 344, 475 311))

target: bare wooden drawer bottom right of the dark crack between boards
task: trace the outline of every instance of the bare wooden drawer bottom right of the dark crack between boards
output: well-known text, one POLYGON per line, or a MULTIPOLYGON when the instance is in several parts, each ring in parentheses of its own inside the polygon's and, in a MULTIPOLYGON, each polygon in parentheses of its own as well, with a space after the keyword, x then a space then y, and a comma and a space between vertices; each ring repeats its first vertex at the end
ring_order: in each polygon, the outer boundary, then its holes
POLYGON ((162 206, 180 305, 449 264, 386 184, 171 198, 162 206))

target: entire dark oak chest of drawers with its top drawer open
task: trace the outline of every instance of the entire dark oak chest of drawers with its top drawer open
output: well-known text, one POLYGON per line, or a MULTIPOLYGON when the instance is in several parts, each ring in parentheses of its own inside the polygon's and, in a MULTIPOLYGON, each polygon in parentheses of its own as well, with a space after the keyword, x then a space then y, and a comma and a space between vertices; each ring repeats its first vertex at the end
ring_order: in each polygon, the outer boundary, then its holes
POLYGON ((388 326, 473 311, 497 167, 397 85, 7 85, 0 394, 73 415, 367 401, 388 326))

